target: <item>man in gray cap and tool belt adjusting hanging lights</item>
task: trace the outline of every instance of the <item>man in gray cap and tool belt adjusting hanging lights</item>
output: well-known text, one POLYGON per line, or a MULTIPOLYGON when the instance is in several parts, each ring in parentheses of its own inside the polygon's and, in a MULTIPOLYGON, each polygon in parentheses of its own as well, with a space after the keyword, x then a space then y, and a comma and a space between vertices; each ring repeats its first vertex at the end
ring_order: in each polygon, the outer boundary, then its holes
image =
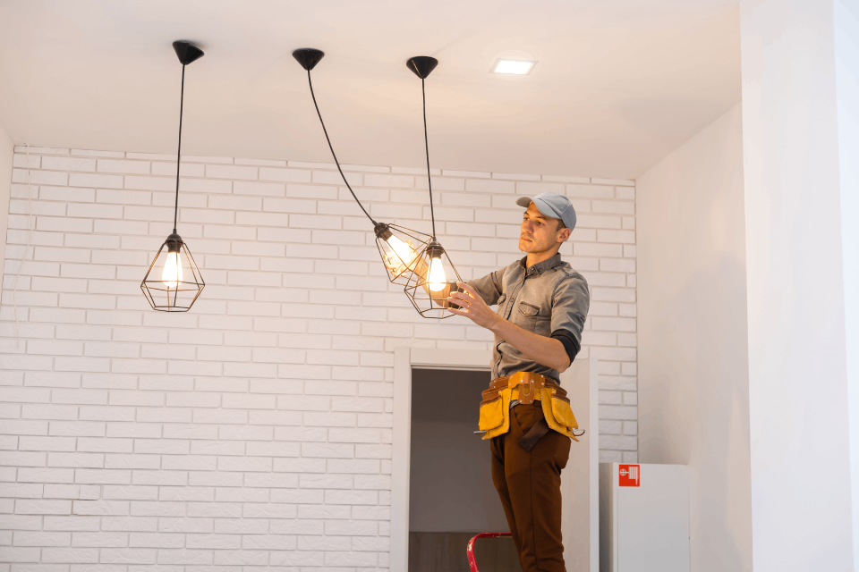
POLYGON ((495 334, 481 429, 523 571, 565 572, 560 474, 577 425, 558 383, 581 347, 591 297, 582 274, 557 254, 575 226, 569 199, 541 193, 516 204, 527 207, 519 236, 526 256, 460 282, 450 311, 495 334))

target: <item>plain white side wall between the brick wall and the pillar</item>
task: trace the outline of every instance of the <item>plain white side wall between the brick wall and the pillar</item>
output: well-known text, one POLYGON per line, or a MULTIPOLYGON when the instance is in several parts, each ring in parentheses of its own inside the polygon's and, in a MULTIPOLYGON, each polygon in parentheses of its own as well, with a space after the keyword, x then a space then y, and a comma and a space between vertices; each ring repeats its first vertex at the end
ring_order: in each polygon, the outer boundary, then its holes
POLYGON ((689 466, 692 569, 752 569, 740 105, 636 181, 639 451, 689 466))

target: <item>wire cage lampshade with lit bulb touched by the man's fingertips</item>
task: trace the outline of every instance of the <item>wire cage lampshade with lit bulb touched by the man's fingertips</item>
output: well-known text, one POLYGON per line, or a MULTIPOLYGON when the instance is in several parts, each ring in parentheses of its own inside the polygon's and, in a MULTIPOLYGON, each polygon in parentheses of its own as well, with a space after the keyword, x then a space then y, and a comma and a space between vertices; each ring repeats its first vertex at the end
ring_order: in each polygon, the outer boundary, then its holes
POLYGON ((458 307, 447 301, 447 297, 460 288, 463 282, 445 248, 431 240, 418 256, 418 262, 408 274, 405 295, 418 314, 425 318, 447 318, 455 315, 448 308, 458 307))

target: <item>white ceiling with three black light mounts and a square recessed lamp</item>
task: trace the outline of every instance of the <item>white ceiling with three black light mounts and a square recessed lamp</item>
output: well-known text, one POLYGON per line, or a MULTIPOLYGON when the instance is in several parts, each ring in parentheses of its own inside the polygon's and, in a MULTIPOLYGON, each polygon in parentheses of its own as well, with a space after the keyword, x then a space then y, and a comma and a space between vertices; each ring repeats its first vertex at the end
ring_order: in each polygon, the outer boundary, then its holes
POLYGON ((740 100, 739 9, 716 0, 0 0, 16 144, 635 178, 740 100), (538 60, 498 76, 499 56, 538 60))

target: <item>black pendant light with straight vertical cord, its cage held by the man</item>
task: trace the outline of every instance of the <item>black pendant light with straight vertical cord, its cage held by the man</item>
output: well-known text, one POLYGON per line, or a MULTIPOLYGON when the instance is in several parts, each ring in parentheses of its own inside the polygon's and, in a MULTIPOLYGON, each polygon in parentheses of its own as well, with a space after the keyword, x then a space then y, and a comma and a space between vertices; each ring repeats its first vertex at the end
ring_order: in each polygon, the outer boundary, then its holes
MULTIPOLYGON (((405 285, 405 295, 412 306, 425 318, 447 318, 450 303, 447 297, 459 287, 462 277, 456 272, 447 251, 436 240, 436 214, 432 205, 432 177, 429 175, 429 136, 427 134, 427 90, 425 80, 436 69, 438 60, 427 55, 412 57, 406 62, 409 70, 421 78, 423 95, 423 142, 427 152, 427 183, 429 186, 429 215, 432 217, 432 238, 418 254, 418 263, 412 265, 405 285)), ((456 306, 455 306, 456 307, 456 306)))

